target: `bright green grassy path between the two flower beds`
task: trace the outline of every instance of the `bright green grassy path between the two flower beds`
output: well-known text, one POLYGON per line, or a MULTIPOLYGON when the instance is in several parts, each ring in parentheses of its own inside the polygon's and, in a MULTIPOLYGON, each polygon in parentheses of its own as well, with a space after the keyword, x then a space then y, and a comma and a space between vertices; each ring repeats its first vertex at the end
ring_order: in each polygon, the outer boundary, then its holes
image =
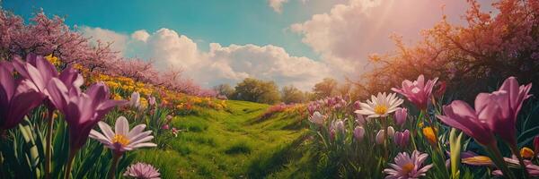
POLYGON ((233 100, 227 106, 175 118, 172 126, 185 131, 167 149, 139 149, 135 161, 154 164, 162 178, 265 178, 298 171, 289 166, 303 158, 296 149, 306 132, 299 116, 260 120, 270 106, 233 100))

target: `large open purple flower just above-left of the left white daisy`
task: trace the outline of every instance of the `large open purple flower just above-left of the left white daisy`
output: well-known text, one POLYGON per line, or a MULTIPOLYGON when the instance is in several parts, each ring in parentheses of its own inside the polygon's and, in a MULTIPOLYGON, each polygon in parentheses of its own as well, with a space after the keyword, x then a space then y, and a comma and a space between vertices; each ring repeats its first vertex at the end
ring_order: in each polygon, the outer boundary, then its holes
POLYGON ((80 149, 92 130, 104 115, 125 101, 110 100, 109 88, 98 82, 85 93, 67 90, 66 84, 53 78, 47 88, 51 102, 65 115, 69 128, 69 144, 71 149, 80 149))

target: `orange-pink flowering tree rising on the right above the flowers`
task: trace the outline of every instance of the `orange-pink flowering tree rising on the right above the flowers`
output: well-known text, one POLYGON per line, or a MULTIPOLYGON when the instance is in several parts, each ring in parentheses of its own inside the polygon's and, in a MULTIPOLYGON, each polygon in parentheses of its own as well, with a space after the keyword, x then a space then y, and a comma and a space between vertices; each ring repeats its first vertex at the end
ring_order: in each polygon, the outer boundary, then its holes
POLYGON ((393 36, 396 53, 369 56, 375 69, 365 74, 362 85, 369 91, 388 90, 419 74, 438 76, 465 91, 486 90, 510 75, 538 81, 539 2, 501 0, 492 4, 498 13, 482 12, 475 0, 469 3, 466 26, 444 17, 423 30, 423 39, 411 47, 393 36))

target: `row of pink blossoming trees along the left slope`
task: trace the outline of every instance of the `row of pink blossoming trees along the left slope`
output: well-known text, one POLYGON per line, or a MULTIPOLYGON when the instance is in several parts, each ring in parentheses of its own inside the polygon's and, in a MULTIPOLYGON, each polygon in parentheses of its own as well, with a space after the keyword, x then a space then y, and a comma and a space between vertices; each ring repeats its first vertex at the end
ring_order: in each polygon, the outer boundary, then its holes
POLYGON ((76 26, 70 29, 58 16, 49 19, 40 12, 25 24, 21 17, 0 9, 0 59, 12 59, 15 55, 53 55, 62 61, 63 68, 80 64, 90 72, 124 76, 190 95, 215 96, 213 90, 202 89, 184 78, 181 69, 158 72, 153 61, 121 57, 110 45, 100 40, 92 45, 76 26))

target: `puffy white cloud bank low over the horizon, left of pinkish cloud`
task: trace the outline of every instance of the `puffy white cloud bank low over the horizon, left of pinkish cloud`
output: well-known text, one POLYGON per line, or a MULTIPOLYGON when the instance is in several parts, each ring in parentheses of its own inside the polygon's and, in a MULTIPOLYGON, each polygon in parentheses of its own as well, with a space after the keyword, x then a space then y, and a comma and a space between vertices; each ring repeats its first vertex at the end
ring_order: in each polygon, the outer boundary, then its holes
MULTIPOLYGON (((148 33, 137 30, 130 35, 103 30, 108 33, 84 34, 102 40, 122 39, 115 44, 123 47, 123 55, 152 59, 160 70, 181 68, 200 84, 211 87, 220 83, 234 84, 252 77, 276 81, 278 85, 293 84, 303 90, 330 75, 329 68, 304 56, 289 55, 283 47, 272 45, 230 45, 223 47, 210 43, 208 52, 199 50, 196 40, 175 30, 161 29, 148 33), (105 34, 102 38, 98 35, 105 34), (121 37, 121 38, 119 38, 121 37)), ((100 29, 102 30, 102 29, 100 29)))

